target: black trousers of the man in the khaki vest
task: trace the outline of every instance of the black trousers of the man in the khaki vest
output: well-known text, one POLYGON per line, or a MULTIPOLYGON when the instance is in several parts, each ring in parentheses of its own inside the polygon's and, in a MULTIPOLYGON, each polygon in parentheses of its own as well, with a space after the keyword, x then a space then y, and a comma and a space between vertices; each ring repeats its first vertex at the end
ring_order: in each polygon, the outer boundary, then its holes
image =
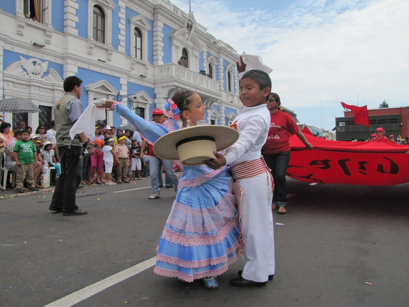
POLYGON ((82 146, 60 146, 58 153, 61 159, 61 175, 58 177, 52 196, 51 206, 60 208, 63 212, 73 212, 78 209, 75 204, 75 194, 82 177, 82 146))

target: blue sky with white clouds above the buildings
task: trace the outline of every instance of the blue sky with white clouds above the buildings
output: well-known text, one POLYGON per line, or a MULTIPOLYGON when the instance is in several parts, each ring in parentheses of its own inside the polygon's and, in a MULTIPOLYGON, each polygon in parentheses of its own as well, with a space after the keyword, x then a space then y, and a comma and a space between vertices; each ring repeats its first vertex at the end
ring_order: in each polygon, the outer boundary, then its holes
MULTIPOLYGON (((409 0, 191 0, 198 23, 274 69, 301 123, 335 126, 339 102, 409 106, 409 0), (245 46, 245 49, 243 49, 245 46)), ((172 0, 189 11, 189 0, 172 0)))

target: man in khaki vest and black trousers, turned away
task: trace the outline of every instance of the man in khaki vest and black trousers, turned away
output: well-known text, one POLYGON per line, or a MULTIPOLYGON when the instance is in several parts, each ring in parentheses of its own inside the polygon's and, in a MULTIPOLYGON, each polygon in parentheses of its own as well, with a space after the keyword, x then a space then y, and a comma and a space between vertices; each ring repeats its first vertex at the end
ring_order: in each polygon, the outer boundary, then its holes
POLYGON ((64 95, 54 104, 56 125, 56 142, 61 160, 61 175, 55 186, 49 210, 63 212, 63 215, 83 215, 88 212, 79 210, 75 203, 76 190, 81 182, 77 169, 80 164, 81 152, 87 148, 93 153, 85 133, 76 134, 70 138, 70 129, 83 112, 81 100, 82 80, 75 76, 64 80, 64 95))

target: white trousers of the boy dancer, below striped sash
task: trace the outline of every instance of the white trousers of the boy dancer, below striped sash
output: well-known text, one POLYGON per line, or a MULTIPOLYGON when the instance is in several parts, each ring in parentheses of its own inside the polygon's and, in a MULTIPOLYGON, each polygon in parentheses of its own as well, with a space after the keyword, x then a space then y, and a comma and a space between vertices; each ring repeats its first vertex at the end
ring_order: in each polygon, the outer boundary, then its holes
POLYGON ((271 185, 267 174, 240 181, 243 192, 240 221, 249 258, 242 276, 255 282, 267 281, 268 275, 273 275, 275 270, 271 185))

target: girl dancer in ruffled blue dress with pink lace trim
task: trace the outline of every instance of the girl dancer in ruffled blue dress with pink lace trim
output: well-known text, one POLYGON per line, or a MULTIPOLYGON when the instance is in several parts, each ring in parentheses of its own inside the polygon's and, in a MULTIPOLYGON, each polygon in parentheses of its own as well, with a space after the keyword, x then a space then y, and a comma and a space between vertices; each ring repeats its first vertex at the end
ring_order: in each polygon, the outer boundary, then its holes
MULTIPOLYGON (((174 116, 164 125, 146 122, 113 100, 107 100, 104 106, 129 120, 151 142, 173 130, 179 118, 182 128, 196 126, 205 119, 206 109, 200 96, 189 90, 178 91, 169 99, 166 109, 174 116)), ((183 167, 178 193, 157 246, 155 273, 186 282, 202 278, 207 289, 217 289, 214 276, 227 271, 237 260, 239 248, 237 202, 232 193, 229 167, 216 171, 205 165, 183 167)))

